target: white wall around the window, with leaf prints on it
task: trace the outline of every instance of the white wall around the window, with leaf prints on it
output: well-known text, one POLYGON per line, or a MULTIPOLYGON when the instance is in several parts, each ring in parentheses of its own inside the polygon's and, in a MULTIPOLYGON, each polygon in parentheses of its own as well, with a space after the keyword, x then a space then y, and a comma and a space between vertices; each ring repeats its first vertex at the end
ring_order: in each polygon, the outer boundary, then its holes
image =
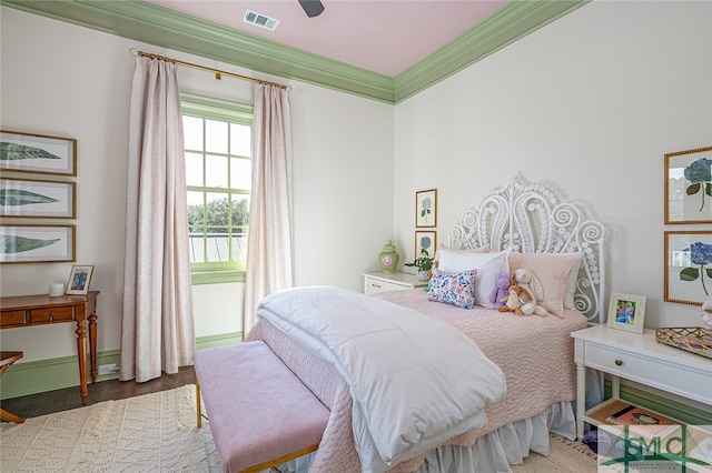
MULTIPOLYGON (((362 289, 362 271, 393 231, 393 107, 263 77, 111 34, 1 8, 0 127, 78 140, 77 261, 93 264, 99 296, 99 351, 119 348, 123 279, 129 48, 291 87, 294 127, 295 282, 362 289), (375 172, 374 170, 378 170, 375 172)), ((179 69, 185 92, 253 102, 249 82, 179 69)), ((3 223, 19 222, 3 220, 3 223)), ((42 221, 48 223, 49 221, 42 221)), ((52 222, 53 223, 53 222, 52 222)), ((47 293, 71 263, 0 266, 0 293, 47 293)), ((196 334, 241 330, 243 284, 194 286, 196 334)), ((69 324, 0 332, 3 350, 22 362, 72 356, 69 324)))

